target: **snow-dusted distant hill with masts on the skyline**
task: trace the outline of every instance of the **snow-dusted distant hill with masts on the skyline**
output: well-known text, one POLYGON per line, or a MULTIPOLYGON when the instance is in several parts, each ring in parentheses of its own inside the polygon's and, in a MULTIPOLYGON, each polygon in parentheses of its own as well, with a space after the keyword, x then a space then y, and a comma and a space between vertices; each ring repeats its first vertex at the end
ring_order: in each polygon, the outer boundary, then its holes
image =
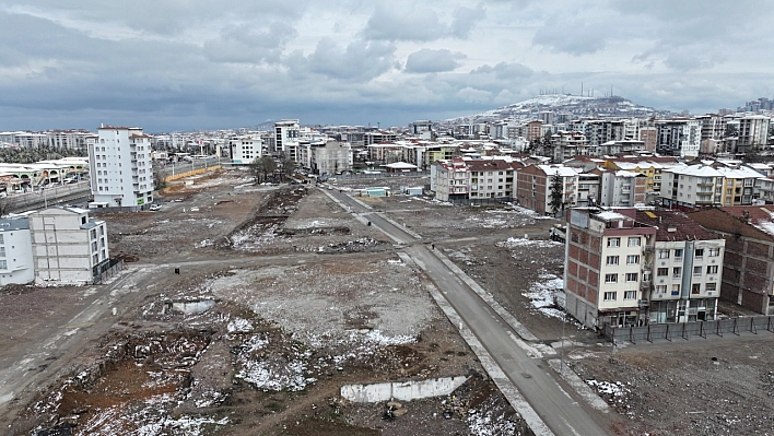
POLYGON ((552 111, 554 116, 566 114, 576 118, 633 118, 672 115, 668 110, 640 106, 623 97, 586 97, 570 94, 546 94, 520 103, 447 120, 453 123, 497 121, 506 118, 532 119, 542 111, 552 111))

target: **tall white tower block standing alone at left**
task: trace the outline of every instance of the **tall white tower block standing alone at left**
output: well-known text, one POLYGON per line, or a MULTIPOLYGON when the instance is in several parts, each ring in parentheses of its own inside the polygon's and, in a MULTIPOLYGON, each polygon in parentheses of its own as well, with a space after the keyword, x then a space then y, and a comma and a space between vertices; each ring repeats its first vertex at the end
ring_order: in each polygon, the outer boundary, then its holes
POLYGON ((89 141, 91 191, 95 207, 127 211, 153 202, 150 137, 136 127, 101 127, 89 141))

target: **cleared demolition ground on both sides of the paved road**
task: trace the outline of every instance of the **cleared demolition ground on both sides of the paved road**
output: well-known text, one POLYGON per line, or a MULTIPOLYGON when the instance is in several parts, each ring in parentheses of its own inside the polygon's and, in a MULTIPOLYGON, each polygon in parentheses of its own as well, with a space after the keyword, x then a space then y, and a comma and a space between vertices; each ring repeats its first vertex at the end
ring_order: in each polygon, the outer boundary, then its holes
MULTIPOLYGON (((10 434, 519 434, 519 416, 430 297, 432 283, 390 239, 326 190, 256 187, 241 172, 191 181, 165 190, 159 212, 102 215, 112 254, 128 261, 109 284, 0 295, 0 322, 11 325, 0 358, 38 378, 0 408, 10 434), (452 394, 425 399, 341 394, 459 376, 467 381, 452 394)), ((508 205, 361 200, 434 244, 540 341, 559 349, 564 329, 566 362, 612 408, 611 434, 771 434, 774 334, 613 349, 563 326, 564 248, 547 240, 558 221, 508 205)))

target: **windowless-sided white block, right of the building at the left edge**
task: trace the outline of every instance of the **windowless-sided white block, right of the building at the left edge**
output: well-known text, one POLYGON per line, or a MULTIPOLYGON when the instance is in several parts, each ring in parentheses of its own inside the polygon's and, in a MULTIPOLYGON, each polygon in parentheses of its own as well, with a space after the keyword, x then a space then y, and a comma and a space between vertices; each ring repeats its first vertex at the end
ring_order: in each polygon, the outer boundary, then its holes
POLYGON ((30 215, 35 280, 92 283, 96 269, 109 260, 107 227, 89 211, 52 208, 30 215))

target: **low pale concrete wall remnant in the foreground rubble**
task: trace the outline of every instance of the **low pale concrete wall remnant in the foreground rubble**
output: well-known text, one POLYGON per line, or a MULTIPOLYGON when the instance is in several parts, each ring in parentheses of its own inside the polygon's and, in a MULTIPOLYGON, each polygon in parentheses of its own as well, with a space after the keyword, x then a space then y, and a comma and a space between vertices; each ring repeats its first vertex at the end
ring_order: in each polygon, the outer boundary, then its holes
POLYGON ((468 377, 443 377, 421 381, 391 381, 374 385, 345 385, 341 397, 359 402, 379 402, 391 399, 411 401, 422 398, 447 396, 460 387, 468 377))

